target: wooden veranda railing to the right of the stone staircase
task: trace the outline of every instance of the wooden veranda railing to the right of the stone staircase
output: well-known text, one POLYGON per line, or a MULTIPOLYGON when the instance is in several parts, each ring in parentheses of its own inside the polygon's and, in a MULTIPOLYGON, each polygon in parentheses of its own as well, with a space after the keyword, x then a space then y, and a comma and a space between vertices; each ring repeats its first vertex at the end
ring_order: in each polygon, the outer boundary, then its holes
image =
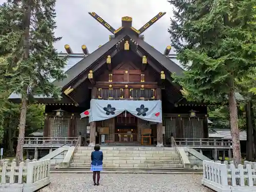
POLYGON ((200 147, 200 148, 231 148, 232 141, 229 139, 212 138, 175 138, 178 146, 200 147))

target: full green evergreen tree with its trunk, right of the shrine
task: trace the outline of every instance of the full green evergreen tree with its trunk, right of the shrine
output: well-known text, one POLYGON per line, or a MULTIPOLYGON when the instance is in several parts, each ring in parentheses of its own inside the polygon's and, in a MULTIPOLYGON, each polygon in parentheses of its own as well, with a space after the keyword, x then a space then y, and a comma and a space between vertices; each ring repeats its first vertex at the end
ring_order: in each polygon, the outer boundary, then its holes
POLYGON ((174 18, 172 45, 186 71, 175 77, 188 99, 222 102, 228 98, 235 165, 241 163, 236 79, 256 66, 256 0, 169 0, 174 18))

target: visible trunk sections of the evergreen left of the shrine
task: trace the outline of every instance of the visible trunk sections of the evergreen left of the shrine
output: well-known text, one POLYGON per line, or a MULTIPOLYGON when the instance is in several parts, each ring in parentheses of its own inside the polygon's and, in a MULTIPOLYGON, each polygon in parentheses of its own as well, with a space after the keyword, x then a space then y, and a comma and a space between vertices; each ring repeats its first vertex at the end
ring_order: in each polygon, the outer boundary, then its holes
MULTIPOLYGON (((31 19, 31 4, 30 1, 27 2, 27 5, 24 5, 27 9, 26 17, 24 19, 24 60, 29 58, 29 29, 30 29, 30 19, 31 19)), ((25 72, 26 73, 26 72, 25 72)), ((20 119, 19 119, 19 133, 18 133, 18 143, 16 150, 16 162, 19 165, 23 160, 23 145, 25 137, 25 126, 26 126, 26 115, 27 115, 27 97, 28 97, 28 84, 24 86, 22 90, 22 108, 20 109, 20 119)))

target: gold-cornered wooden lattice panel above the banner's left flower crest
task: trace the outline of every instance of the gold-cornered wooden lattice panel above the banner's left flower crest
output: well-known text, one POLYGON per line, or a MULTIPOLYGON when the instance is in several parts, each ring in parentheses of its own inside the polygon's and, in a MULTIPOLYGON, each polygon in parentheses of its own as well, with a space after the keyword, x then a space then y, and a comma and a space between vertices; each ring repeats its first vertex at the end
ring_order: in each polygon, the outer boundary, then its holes
POLYGON ((123 89, 98 89, 98 98, 101 99, 122 99, 123 89))

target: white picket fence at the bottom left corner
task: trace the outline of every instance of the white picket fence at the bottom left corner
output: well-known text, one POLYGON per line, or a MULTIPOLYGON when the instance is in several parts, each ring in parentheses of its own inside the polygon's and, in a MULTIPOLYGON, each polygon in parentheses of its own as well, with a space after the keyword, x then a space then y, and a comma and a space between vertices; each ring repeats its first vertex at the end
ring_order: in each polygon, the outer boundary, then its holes
POLYGON ((50 183, 50 159, 19 163, 1 162, 0 192, 33 192, 50 183))

